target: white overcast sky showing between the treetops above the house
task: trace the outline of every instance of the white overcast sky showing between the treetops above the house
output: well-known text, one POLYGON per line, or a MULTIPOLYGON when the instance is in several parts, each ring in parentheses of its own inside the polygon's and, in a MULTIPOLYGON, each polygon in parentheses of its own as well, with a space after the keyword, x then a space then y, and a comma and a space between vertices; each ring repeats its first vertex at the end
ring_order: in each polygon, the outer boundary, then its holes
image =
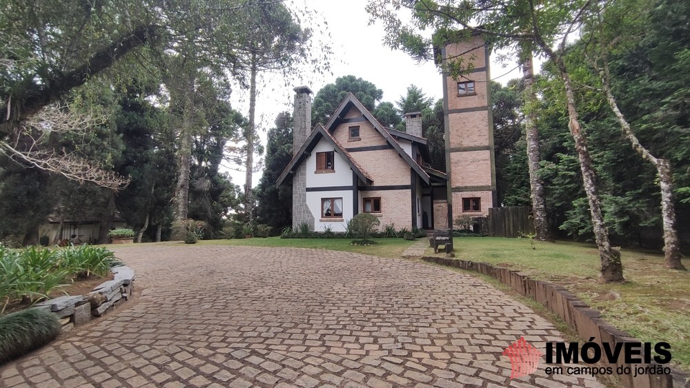
MULTIPOLYGON (((320 19, 328 23, 330 38, 319 34, 333 49, 331 58, 331 74, 304 74, 285 85, 285 80, 279 76, 268 76, 259 84, 257 99, 257 121, 259 138, 266 145, 266 131, 273 126, 277 113, 284 110, 292 112, 293 88, 307 85, 314 93, 327 85, 334 83, 339 76, 352 74, 374 83, 383 90, 382 101, 395 101, 406 94, 411 84, 421 88, 427 96, 440 99, 442 92, 441 76, 432 63, 416 63, 407 54, 393 51, 384 47, 384 31, 382 25, 368 25, 369 15, 366 13, 366 0, 292 0, 286 4, 290 8, 305 7, 315 10, 320 19), (262 88, 263 86, 263 88, 262 88)), ((303 26, 315 28, 303 20, 303 26)), ((324 31, 321 31, 324 32, 324 31)), ((491 76, 496 81, 506 83, 509 79, 521 74, 515 69, 515 64, 503 65, 492 63, 491 76), (514 69, 514 70, 513 70, 514 69), (511 70, 513 70, 511 72, 511 70), (507 74, 506 74, 507 73, 507 74)), ((233 90, 233 108, 246 114, 248 112, 248 98, 242 90, 233 90)), ((233 183, 244 185, 244 172, 231 171, 233 183)), ((261 173, 254 176, 254 186, 257 185, 261 173)))

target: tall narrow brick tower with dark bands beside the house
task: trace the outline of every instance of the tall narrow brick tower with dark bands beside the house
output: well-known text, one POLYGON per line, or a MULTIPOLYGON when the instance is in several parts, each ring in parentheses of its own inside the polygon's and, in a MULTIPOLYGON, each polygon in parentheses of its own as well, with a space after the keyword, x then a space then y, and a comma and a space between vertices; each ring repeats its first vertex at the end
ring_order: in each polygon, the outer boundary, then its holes
POLYGON ((444 73, 446 172, 449 223, 458 216, 486 216, 496 205, 496 170, 489 80, 489 48, 484 37, 468 37, 442 48, 444 61, 462 58, 473 70, 457 79, 444 73))

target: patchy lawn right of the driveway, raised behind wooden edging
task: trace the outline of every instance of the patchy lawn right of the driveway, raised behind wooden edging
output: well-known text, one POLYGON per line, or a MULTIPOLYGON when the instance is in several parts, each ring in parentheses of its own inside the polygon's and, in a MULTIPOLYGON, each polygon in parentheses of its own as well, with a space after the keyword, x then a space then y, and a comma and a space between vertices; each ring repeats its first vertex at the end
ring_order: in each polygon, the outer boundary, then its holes
MULTIPOLYGON (((603 285, 593 244, 535 242, 517 238, 462 237, 453 240, 455 257, 489 263, 563 285, 609 323, 642 342, 671 344, 673 361, 690 371, 690 272, 664 268, 655 252, 621 250, 624 284, 603 285)), ((433 249, 427 249, 434 256, 433 249)), ((441 256, 441 254, 437 255, 441 256)), ((690 260, 684 260, 690 268, 690 260)))

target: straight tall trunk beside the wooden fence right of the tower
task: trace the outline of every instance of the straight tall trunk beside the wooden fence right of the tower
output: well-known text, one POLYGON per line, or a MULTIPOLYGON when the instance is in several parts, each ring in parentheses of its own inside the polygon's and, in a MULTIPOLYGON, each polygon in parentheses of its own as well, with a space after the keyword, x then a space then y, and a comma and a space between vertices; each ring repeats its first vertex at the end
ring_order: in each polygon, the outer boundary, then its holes
POLYGON ((525 132, 527 140, 527 166, 529 169, 529 187, 532 198, 532 214, 534 218, 535 239, 546 241, 549 239, 549 222, 546 216, 546 201, 544 199, 544 181, 539 177, 539 130, 537 128, 537 113, 533 105, 537 101, 534 91, 534 68, 532 53, 522 63, 524 79, 524 101, 528 106, 525 117, 525 132))

